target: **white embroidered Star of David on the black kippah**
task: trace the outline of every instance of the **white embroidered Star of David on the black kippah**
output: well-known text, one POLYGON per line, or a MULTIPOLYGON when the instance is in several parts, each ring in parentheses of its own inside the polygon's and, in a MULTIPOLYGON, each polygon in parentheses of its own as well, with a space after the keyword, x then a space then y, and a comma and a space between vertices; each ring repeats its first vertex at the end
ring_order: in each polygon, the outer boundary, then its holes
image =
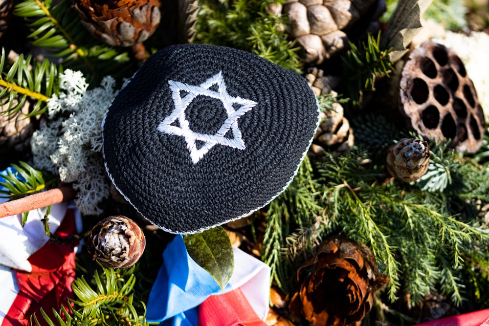
POLYGON ((214 147, 214 145, 223 145, 244 150, 243 138, 241 130, 238 127, 238 119, 247 111, 253 109, 257 103, 251 100, 243 99, 239 96, 233 97, 227 93, 226 84, 222 77, 222 71, 207 79, 200 85, 188 85, 185 83, 169 80, 168 84, 172 91, 172 98, 175 104, 175 109, 168 115, 157 127, 157 130, 169 134, 183 136, 187 142, 187 149, 192 158, 192 162, 196 164, 199 160, 214 147), (213 85, 217 85, 218 90, 210 89, 213 85), (186 95, 181 96, 181 91, 186 92, 186 95), (214 134, 194 132, 190 129, 189 122, 185 116, 185 109, 192 103, 198 95, 209 96, 221 100, 224 109, 227 113, 226 120, 222 126, 214 134), (235 107, 239 106, 235 110, 235 107), (175 126, 175 121, 178 120, 178 126, 175 126), (225 137, 226 133, 231 130, 233 138, 225 137), (203 142, 202 147, 196 147, 196 141, 203 142))

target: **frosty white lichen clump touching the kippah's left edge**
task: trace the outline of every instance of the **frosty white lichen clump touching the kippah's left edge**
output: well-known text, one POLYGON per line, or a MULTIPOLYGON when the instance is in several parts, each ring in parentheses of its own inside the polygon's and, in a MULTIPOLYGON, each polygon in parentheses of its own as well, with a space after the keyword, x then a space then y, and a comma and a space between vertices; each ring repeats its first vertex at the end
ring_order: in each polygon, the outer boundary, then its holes
POLYGON ((87 90, 82 73, 67 69, 60 76, 58 96, 48 100, 49 121, 31 140, 34 167, 59 174, 77 190, 82 214, 99 215, 109 196, 102 154, 102 120, 117 91, 107 76, 100 87, 87 90))

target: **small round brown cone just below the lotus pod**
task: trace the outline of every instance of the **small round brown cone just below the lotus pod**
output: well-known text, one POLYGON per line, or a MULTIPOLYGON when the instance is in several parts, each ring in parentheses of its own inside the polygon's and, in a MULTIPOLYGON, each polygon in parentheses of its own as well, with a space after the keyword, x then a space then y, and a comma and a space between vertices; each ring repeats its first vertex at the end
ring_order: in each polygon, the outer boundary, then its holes
POLYGON ((417 138, 403 138, 387 151, 387 171, 399 180, 415 181, 428 170, 429 158, 427 142, 417 138))

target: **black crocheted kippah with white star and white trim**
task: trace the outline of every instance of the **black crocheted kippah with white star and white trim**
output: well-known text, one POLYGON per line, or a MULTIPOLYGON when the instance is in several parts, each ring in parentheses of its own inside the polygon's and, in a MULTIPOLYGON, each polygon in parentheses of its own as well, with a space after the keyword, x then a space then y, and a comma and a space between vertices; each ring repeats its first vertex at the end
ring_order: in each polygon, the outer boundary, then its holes
POLYGON ((152 55, 103 123, 107 172, 171 233, 244 217, 290 183, 318 124, 305 78, 256 55, 202 44, 152 55))

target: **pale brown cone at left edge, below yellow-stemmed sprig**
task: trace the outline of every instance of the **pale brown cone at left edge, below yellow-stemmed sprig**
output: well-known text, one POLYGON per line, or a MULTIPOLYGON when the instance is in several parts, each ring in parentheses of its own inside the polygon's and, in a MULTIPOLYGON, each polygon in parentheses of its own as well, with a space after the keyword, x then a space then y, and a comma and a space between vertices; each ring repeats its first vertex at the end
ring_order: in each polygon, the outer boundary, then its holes
MULTIPOLYGON (((14 99, 12 105, 17 105, 14 99)), ((26 115, 29 113, 30 104, 26 101, 22 109, 12 115, 0 114, 0 146, 13 149, 17 152, 27 152, 30 149, 30 139, 34 132, 31 119, 26 115)), ((8 104, 0 107, 3 112, 8 104)))

